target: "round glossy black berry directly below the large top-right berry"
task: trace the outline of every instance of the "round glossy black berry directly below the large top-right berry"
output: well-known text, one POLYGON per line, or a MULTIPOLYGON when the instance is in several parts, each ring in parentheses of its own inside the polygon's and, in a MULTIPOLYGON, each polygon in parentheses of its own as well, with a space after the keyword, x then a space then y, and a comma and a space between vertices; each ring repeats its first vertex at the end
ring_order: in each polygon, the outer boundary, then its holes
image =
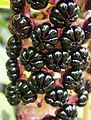
POLYGON ((72 26, 66 27, 59 40, 61 42, 61 46, 64 50, 75 50, 78 46, 80 46, 85 39, 85 33, 80 27, 72 26))

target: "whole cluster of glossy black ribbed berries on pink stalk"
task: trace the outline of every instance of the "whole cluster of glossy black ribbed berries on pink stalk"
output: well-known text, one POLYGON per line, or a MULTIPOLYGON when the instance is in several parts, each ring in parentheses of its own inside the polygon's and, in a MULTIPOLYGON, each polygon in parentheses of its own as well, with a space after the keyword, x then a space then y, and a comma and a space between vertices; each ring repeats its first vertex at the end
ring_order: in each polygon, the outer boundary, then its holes
POLYGON ((81 46, 91 37, 91 17, 82 27, 73 25, 79 6, 73 0, 59 0, 46 11, 48 21, 34 24, 31 8, 41 12, 49 4, 49 0, 10 0, 13 15, 8 28, 13 36, 6 46, 6 69, 11 83, 5 95, 11 105, 18 105, 33 103, 42 94, 46 104, 58 107, 55 116, 42 120, 74 120, 76 106, 86 105, 91 91, 82 76, 88 66, 88 51, 81 46), (32 45, 24 47, 30 39, 32 45), (31 72, 30 76, 24 71, 31 72), (59 79, 55 79, 56 72, 59 79), (76 95, 74 103, 70 90, 76 95))

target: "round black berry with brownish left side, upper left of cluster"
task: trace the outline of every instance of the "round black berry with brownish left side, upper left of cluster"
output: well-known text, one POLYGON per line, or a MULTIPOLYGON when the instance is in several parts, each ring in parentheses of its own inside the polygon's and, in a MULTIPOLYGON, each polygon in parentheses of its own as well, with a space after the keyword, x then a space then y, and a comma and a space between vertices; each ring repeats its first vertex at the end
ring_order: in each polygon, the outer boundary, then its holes
POLYGON ((31 21, 23 14, 16 14, 10 18, 9 21, 10 32, 19 39, 25 39, 30 36, 32 31, 31 21))

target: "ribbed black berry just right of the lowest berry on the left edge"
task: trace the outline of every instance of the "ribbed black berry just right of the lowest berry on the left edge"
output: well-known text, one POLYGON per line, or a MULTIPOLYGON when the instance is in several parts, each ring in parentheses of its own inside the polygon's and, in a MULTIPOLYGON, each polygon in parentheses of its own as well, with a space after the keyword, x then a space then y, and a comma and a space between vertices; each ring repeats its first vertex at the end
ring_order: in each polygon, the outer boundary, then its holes
POLYGON ((35 102, 37 99, 37 94, 28 87, 26 80, 18 80, 15 91, 21 95, 21 100, 25 104, 35 102))

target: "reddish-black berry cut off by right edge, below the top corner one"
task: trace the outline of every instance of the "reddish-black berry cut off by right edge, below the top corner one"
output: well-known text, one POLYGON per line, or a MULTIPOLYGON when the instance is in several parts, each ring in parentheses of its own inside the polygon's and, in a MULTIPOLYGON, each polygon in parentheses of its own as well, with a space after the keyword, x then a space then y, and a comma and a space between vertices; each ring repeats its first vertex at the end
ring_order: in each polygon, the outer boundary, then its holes
MULTIPOLYGON (((83 24, 83 30, 85 32, 86 39, 91 38, 91 17, 89 17, 83 24)), ((84 43, 85 42, 87 42, 87 40, 85 40, 84 43)))

